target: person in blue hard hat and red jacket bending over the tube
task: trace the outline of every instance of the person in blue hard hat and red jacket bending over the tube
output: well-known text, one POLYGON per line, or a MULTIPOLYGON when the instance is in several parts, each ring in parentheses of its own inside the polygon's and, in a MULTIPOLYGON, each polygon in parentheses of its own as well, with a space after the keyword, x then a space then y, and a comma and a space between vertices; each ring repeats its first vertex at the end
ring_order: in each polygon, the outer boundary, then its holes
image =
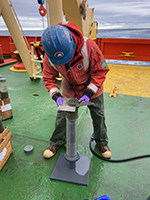
MULTIPOLYGON (((43 80, 47 91, 57 106, 62 105, 63 97, 77 98, 79 103, 94 102, 88 106, 94 139, 101 155, 110 158, 103 100, 103 82, 109 69, 98 45, 83 37, 73 22, 47 27, 42 34, 42 44, 45 51, 43 80), (62 75, 62 94, 56 79, 59 73, 62 75)), ((51 158, 65 144, 66 112, 57 111, 55 130, 43 156, 51 158)))

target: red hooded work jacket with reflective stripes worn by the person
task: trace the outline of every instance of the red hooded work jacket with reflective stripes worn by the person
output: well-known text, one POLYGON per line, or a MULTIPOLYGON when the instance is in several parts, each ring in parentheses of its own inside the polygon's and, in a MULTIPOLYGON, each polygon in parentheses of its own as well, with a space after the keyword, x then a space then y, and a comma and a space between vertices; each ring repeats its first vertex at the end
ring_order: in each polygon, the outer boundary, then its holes
MULTIPOLYGON (((98 97, 103 92, 103 82, 106 73, 109 71, 104 56, 97 44, 89 39, 84 38, 73 22, 67 24, 60 23, 67 27, 76 43, 76 54, 70 61, 72 66, 66 70, 65 65, 54 66, 47 55, 43 60, 43 80, 45 87, 51 97, 59 91, 59 85, 56 77, 58 73, 62 74, 62 95, 66 98, 83 96, 83 92, 90 90, 93 92, 91 99, 98 97)), ((86 94, 86 92, 85 92, 86 94)))

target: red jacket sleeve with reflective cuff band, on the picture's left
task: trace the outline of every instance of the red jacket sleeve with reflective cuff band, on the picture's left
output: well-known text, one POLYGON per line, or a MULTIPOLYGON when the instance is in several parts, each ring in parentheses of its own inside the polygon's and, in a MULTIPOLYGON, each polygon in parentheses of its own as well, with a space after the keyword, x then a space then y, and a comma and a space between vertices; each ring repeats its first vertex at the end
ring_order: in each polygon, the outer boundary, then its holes
MULTIPOLYGON (((58 77, 59 73, 52 67, 50 61, 45 54, 43 60, 43 80, 45 82, 45 87, 47 91, 50 93, 51 97, 53 98, 54 94, 59 93, 59 85, 57 83, 56 77, 58 77)), ((56 96, 56 95, 55 95, 56 96)), ((61 96, 61 94, 60 94, 61 96)), ((54 99, 55 100, 55 99, 54 99)))

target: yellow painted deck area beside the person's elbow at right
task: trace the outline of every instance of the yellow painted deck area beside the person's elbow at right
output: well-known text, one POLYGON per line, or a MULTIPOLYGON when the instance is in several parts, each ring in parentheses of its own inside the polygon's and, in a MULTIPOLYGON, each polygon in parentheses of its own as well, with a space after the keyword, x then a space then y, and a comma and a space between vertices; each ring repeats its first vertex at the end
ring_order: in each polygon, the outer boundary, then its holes
POLYGON ((110 71, 104 82, 104 92, 117 87, 118 94, 150 98, 150 66, 108 64, 110 71))

